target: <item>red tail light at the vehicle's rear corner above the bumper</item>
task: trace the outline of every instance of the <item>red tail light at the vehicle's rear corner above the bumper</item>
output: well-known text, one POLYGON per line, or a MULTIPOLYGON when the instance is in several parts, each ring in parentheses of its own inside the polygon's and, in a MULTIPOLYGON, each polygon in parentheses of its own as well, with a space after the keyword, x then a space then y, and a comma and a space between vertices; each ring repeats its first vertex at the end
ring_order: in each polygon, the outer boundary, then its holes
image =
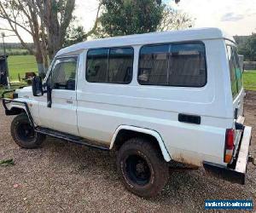
POLYGON ((224 150, 224 162, 230 163, 232 160, 233 150, 235 147, 235 130, 226 130, 225 150, 224 150))

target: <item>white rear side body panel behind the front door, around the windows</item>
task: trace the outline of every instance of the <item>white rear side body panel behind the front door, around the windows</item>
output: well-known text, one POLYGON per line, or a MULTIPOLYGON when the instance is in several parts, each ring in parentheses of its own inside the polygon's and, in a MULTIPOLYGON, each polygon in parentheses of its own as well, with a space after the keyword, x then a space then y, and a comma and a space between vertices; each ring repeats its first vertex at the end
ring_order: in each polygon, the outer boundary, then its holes
POLYGON ((207 50, 207 85, 203 88, 139 85, 141 46, 134 46, 130 84, 88 83, 85 51, 77 90, 80 135, 109 144, 119 125, 137 126, 157 131, 172 159, 197 165, 202 160, 224 164, 225 130, 233 116, 224 40, 203 42, 207 50), (178 113, 199 115, 201 124, 180 123, 178 113))

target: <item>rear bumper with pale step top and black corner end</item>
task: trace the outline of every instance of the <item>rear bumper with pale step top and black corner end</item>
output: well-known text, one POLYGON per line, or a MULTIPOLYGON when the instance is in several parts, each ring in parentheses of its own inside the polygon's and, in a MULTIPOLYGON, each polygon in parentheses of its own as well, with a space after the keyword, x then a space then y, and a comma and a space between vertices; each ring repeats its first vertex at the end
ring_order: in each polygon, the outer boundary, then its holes
POLYGON ((227 166, 212 164, 210 162, 203 162, 205 170, 210 172, 214 176, 218 176, 226 181, 245 184, 246 173, 247 173, 247 163, 249 158, 249 147, 252 140, 252 127, 245 126, 239 147, 239 152, 237 154, 236 161, 234 162, 232 168, 227 166))

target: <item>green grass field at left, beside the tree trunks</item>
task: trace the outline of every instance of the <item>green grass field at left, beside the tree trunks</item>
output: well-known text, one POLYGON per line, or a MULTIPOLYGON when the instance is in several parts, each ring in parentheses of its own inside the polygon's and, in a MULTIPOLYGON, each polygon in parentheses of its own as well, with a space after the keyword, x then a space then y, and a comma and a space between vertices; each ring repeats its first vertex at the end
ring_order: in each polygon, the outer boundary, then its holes
POLYGON ((38 72, 36 59, 33 55, 10 55, 8 58, 10 80, 23 78, 25 72, 38 72))

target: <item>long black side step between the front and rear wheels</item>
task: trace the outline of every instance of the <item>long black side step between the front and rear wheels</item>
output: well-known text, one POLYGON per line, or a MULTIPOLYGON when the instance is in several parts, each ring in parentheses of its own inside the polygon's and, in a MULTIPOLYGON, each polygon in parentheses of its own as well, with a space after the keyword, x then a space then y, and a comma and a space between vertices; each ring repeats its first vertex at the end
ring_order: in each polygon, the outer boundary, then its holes
POLYGON ((97 149, 101 149, 103 151, 109 151, 108 147, 103 147, 103 146, 97 145, 95 141, 85 140, 84 138, 79 137, 79 136, 70 135, 67 133, 63 133, 63 132, 56 131, 56 130, 50 130, 50 129, 43 128, 43 127, 36 127, 35 131, 38 133, 41 133, 43 135, 49 135, 49 136, 52 136, 55 138, 65 140, 65 141, 78 143, 78 144, 81 144, 81 145, 84 145, 87 147, 97 148, 97 149))

